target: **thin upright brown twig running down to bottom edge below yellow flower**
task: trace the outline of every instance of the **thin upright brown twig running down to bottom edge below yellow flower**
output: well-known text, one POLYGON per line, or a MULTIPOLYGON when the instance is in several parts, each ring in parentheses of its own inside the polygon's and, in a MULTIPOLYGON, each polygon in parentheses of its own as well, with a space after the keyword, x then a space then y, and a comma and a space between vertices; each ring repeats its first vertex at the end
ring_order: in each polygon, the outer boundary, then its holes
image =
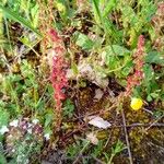
POLYGON ((132 164, 132 155, 131 155, 131 150, 130 150, 130 143, 129 143, 129 138, 128 138, 128 132, 127 132, 126 117, 125 117, 124 109, 121 109, 121 117, 122 117, 124 130, 126 134, 127 149, 129 153, 129 161, 130 161, 130 164, 132 164))

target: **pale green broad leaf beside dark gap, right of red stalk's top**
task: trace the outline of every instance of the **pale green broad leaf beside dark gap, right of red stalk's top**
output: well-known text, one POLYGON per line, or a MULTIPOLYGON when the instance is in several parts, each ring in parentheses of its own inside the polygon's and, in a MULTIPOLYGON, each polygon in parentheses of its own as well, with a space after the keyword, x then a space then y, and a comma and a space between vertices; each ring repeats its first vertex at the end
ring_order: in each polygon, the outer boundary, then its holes
POLYGON ((75 44, 84 50, 91 50, 94 43, 84 34, 80 32, 74 33, 75 44))

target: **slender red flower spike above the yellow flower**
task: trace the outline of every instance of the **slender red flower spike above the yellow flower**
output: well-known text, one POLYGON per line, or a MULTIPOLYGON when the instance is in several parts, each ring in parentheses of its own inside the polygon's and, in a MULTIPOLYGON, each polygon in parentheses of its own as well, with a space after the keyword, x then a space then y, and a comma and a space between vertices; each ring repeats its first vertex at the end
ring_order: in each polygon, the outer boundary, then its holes
POLYGON ((134 73, 128 77, 127 80, 127 91, 126 95, 130 95, 132 89, 137 85, 140 85, 143 79, 143 65, 144 65, 144 37, 143 35, 139 36, 137 51, 133 55, 134 57, 134 73))

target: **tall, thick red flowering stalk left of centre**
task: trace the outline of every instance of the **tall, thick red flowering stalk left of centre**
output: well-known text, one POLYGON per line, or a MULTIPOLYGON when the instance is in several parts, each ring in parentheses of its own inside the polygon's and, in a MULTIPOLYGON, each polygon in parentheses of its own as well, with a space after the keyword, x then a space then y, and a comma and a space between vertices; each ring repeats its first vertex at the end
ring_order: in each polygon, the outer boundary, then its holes
POLYGON ((66 50, 62 39, 56 31, 50 30, 49 35, 54 52, 50 81, 54 87, 54 98, 56 101, 56 118, 58 119, 57 128, 59 128, 61 124, 62 101, 66 98, 63 89, 68 86, 68 79, 66 78, 67 62, 63 56, 66 50))

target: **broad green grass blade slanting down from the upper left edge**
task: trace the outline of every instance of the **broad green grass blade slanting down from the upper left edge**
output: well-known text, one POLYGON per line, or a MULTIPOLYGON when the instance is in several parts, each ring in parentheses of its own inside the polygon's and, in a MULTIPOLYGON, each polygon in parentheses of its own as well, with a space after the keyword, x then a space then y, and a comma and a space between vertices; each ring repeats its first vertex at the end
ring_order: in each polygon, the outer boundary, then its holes
POLYGON ((42 36, 40 33, 37 32, 37 30, 35 30, 33 26, 31 26, 30 22, 27 22, 24 17, 20 16, 17 13, 15 13, 15 12, 11 11, 10 9, 7 9, 7 8, 2 7, 2 5, 0 5, 0 9, 2 10, 2 12, 4 13, 4 15, 8 19, 21 23, 23 26, 27 27, 32 32, 34 32, 37 35, 42 36))

